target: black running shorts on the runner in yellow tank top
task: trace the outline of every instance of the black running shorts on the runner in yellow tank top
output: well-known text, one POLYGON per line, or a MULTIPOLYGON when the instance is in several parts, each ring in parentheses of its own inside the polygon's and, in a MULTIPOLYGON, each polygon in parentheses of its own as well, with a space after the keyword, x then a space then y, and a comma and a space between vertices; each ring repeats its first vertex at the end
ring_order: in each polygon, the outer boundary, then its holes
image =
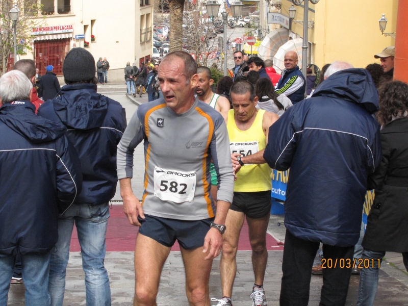
POLYGON ((259 219, 271 213, 271 191, 234 192, 230 209, 244 213, 248 218, 259 219))

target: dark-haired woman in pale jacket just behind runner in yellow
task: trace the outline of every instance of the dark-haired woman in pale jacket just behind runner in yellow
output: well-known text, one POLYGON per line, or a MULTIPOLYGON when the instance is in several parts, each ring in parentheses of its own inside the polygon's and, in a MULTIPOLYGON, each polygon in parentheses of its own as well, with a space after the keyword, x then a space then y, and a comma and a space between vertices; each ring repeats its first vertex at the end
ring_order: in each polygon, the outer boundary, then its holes
POLYGON ((255 85, 258 96, 257 109, 274 113, 281 117, 292 106, 292 101, 284 94, 277 94, 271 80, 261 78, 255 85))

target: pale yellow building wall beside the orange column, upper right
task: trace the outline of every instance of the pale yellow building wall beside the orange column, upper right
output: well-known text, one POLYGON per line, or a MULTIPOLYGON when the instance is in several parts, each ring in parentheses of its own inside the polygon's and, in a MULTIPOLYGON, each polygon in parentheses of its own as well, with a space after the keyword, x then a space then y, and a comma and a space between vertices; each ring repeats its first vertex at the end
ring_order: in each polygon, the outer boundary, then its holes
MULTIPOLYGON (((282 0, 282 13, 289 16, 292 2, 282 0)), ((379 63, 374 54, 387 46, 395 45, 395 39, 381 35, 378 19, 385 14, 386 32, 395 32, 398 0, 320 0, 309 3, 309 20, 315 21, 308 30, 312 43, 312 63, 322 67, 334 61, 347 61, 354 67, 366 67, 379 63)), ((295 6, 295 20, 303 20, 303 6, 295 6)), ((303 36, 303 25, 292 23, 292 32, 303 36)))

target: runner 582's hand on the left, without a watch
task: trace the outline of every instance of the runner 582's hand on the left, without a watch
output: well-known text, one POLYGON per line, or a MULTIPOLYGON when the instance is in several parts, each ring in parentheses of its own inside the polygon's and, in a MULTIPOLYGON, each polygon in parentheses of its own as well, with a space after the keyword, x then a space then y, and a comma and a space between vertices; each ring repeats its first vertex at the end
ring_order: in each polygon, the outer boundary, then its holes
POLYGON ((141 226, 137 216, 139 215, 144 219, 144 213, 142 208, 142 203, 133 194, 131 179, 120 179, 120 196, 123 199, 123 212, 125 213, 129 223, 135 226, 141 226))

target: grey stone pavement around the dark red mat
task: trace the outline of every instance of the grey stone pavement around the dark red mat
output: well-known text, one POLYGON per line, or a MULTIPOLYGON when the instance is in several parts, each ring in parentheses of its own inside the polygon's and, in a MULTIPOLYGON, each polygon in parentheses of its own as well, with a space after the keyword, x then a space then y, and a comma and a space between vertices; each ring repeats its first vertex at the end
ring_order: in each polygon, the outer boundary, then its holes
MULTIPOLYGON (((124 88, 124 86, 123 86, 124 88)), ((108 88, 104 89, 108 90, 108 88)), ((109 89, 110 90, 110 89, 109 89)), ((126 108, 126 117, 129 120, 137 109, 137 104, 146 103, 147 96, 136 99, 137 102, 127 99, 125 94, 107 94, 116 99, 126 108)), ((140 196, 142 190, 141 176, 143 172, 143 150, 135 154, 135 174, 133 188, 136 195, 140 196), (139 186, 136 186, 140 184, 139 186)), ((116 195, 118 200, 120 196, 116 195)), ((119 203, 119 202, 118 202, 119 203)), ((283 222, 283 215, 271 215, 268 232, 279 240, 285 238, 285 226, 278 226, 283 222)), ((131 306, 134 296, 134 254, 133 252, 108 252, 106 254, 106 267, 109 272, 112 305, 131 306)), ((278 305, 279 292, 282 278, 283 251, 268 251, 268 264, 265 275, 264 288, 268 305, 278 305)), ((318 263, 318 258, 316 258, 318 263)), ((249 306, 249 295, 253 285, 253 272, 250 251, 239 251, 237 255, 238 271, 234 283, 234 306, 249 306)), ((310 289, 310 306, 319 304, 322 276, 312 275, 310 289)), ((356 304, 359 286, 359 275, 352 275, 346 305, 356 304)), ((158 305, 184 306, 188 305, 185 295, 184 267, 181 254, 172 251, 167 259, 161 277, 158 295, 158 305)), ((219 257, 213 262, 210 278, 211 297, 221 298, 219 257)), ((66 290, 64 306, 85 305, 84 272, 80 252, 71 252, 67 268, 66 290)), ((8 305, 24 305, 24 285, 11 285, 8 305)), ((381 265, 375 306, 408 305, 408 275, 404 272, 402 258, 398 253, 388 252, 386 260, 381 265)))

